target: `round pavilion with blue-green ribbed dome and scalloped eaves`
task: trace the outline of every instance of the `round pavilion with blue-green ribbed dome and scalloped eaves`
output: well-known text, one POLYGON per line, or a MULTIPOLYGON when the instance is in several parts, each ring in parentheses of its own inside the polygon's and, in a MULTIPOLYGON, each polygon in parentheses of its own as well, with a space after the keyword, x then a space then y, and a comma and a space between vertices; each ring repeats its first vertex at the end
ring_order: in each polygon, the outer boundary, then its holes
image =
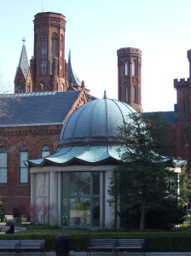
MULTIPOLYGON (((117 128, 133 112, 128 104, 106 96, 88 102, 68 117, 55 154, 27 161, 31 203, 50 206, 49 224, 113 227, 114 207, 109 206, 107 190, 113 169, 121 163, 117 128)), ((181 165, 173 161, 175 172, 181 172, 181 165)))

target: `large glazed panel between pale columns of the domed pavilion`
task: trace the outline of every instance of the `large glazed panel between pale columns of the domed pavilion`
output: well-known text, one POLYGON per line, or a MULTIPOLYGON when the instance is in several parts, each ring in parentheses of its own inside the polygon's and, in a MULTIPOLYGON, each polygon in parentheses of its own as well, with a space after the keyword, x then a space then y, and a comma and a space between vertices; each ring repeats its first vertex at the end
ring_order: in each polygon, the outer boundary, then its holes
POLYGON ((100 172, 62 172, 63 226, 100 225, 100 172))

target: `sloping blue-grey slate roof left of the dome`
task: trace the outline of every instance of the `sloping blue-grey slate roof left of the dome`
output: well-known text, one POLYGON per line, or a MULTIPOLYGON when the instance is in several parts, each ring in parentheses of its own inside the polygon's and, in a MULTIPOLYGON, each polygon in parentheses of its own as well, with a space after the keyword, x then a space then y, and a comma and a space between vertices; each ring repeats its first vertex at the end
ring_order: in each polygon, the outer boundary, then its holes
POLYGON ((61 124, 80 90, 0 95, 0 126, 61 124))

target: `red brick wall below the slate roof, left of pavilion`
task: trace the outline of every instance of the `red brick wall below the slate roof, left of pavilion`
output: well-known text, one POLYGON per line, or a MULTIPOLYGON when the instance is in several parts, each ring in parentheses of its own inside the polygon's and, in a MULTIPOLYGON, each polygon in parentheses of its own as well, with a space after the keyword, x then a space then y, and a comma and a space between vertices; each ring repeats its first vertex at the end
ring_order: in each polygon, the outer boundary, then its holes
POLYGON ((50 152, 57 149, 61 125, 3 127, 0 129, 1 146, 8 152, 8 183, 0 184, 1 201, 6 214, 13 209, 30 204, 30 174, 28 183, 20 183, 20 148, 28 148, 28 158, 41 158, 41 148, 49 146, 50 152))

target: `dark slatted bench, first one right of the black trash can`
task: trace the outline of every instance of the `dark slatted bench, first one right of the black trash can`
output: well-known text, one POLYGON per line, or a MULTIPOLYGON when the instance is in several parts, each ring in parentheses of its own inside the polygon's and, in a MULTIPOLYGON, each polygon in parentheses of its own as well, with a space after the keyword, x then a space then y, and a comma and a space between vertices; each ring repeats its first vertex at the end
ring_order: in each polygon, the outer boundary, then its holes
POLYGON ((115 254, 117 239, 90 239, 90 245, 87 247, 87 256, 92 251, 111 251, 115 254))

